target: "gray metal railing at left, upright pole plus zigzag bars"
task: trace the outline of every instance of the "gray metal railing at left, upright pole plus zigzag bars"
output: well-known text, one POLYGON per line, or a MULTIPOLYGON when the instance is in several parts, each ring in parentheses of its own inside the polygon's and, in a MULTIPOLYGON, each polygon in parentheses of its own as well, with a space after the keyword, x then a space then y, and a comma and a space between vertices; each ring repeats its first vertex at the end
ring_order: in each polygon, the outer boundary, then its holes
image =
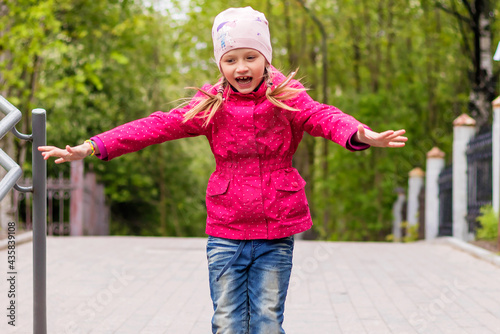
POLYGON ((0 95, 0 111, 5 117, 0 121, 0 139, 9 131, 16 137, 32 143, 33 151, 33 186, 21 187, 17 182, 21 178, 21 167, 0 149, 0 165, 7 170, 7 175, 0 181, 0 201, 15 188, 21 192, 33 193, 33 333, 47 333, 47 298, 46 298, 46 235, 47 235, 47 162, 38 151, 46 145, 46 113, 44 109, 33 109, 33 134, 25 135, 16 130, 21 120, 21 112, 0 95))

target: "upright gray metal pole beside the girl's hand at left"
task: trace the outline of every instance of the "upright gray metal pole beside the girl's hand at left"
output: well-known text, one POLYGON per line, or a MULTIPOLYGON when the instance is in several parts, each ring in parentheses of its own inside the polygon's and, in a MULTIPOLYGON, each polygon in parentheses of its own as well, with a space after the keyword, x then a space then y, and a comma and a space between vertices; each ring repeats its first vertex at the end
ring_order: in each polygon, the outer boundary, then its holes
POLYGON ((38 151, 47 144, 44 109, 32 112, 33 126, 33 333, 47 334, 46 242, 47 161, 38 151))

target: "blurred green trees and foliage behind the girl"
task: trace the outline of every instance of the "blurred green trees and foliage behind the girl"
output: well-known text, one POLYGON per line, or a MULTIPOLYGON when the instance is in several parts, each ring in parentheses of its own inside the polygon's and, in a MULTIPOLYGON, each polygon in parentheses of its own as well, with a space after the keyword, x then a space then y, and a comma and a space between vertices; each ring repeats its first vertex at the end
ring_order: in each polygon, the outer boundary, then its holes
MULTIPOLYGON (((285 74, 299 67, 314 99, 409 137, 404 149, 352 153, 306 134, 294 166, 307 181, 308 238, 386 240, 395 190, 407 188, 408 173, 425 169, 434 146, 451 162, 453 121, 467 113, 478 134, 491 128, 500 68, 492 59, 500 39, 493 0, 0 0, 0 95, 23 112, 19 131, 31 132, 29 111, 40 107, 49 145, 80 144, 175 108, 193 94, 185 87, 216 82, 213 19, 242 6, 265 13, 273 65, 285 74)), ((29 177, 31 146, 8 135, 1 147, 29 177)), ((85 160, 104 185, 106 209, 98 210, 107 210, 112 235, 204 236, 214 168, 202 137, 111 162, 85 160)), ((48 170, 54 180, 70 177, 69 164, 52 160, 48 170)), ((49 209, 53 220, 69 221, 61 206, 70 197, 53 193, 60 203, 49 209)), ((2 219, 25 220, 23 201, 11 192, 2 219)))

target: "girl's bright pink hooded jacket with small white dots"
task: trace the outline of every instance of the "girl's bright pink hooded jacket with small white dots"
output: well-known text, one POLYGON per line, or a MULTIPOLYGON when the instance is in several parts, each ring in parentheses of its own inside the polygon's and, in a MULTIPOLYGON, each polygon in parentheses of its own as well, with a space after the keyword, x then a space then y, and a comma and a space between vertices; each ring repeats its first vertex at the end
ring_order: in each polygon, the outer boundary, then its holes
MULTIPOLYGON (((274 83, 284 76, 276 72, 274 83)), ((293 81, 295 87, 303 87, 293 81)), ((213 86, 203 87, 216 93, 213 86)), ((207 127, 183 115, 182 109, 155 112, 92 139, 99 158, 111 160, 148 145, 184 137, 206 136, 216 169, 208 180, 206 233, 228 239, 276 239, 312 226, 304 186, 292 167, 292 156, 304 131, 354 151, 368 148, 352 139, 360 124, 339 109, 314 101, 306 92, 286 103, 299 111, 280 109, 265 96, 266 85, 251 94, 231 91, 207 127)), ((195 95, 201 97, 201 93, 195 95)))

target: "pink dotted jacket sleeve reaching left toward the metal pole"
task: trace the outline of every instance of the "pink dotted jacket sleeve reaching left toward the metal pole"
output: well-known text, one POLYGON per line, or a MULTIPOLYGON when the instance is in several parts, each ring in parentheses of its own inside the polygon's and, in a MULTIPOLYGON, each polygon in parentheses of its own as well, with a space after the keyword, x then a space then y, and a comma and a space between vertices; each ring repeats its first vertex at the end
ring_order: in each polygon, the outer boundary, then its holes
MULTIPOLYGON (((205 88, 205 87, 204 87, 205 88)), ((157 111, 114 129, 98 134, 91 139, 99 147, 96 155, 102 160, 111 160, 125 153, 139 151, 149 145, 186 137, 204 135, 210 127, 203 127, 203 119, 195 117, 183 123, 185 113, 202 97, 197 93, 184 108, 170 112, 157 111)))

